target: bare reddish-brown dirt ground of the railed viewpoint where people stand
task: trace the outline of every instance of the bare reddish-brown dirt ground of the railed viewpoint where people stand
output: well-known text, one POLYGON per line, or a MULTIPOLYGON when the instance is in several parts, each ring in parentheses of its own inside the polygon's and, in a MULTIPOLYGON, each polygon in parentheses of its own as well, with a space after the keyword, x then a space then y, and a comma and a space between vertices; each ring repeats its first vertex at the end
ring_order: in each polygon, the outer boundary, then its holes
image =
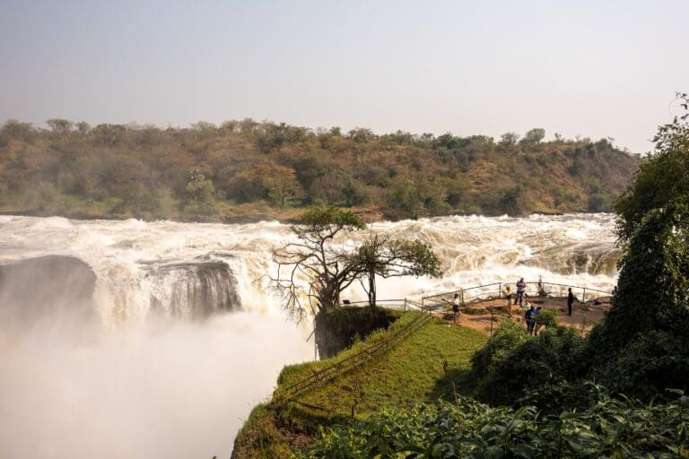
MULTIPOLYGON (((558 309, 560 311, 560 323, 562 325, 574 326, 582 332, 588 333, 591 327, 605 316, 605 311, 610 308, 610 298, 603 297, 593 301, 581 303, 574 301, 571 316, 567 315, 567 298, 530 298, 529 301, 534 305, 544 309, 558 309)), ((525 303, 526 305, 526 303, 525 303)), ((464 325, 480 332, 492 333, 497 330, 501 321, 509 318, 507 312, 506 299, 486 299, 475 303, 467 304, 461 308, 462 314, 458 319, 458 325, 464 325), (493 314, 491 314, 493 313, 493 314)), ((512 318, 524 324, 524 312, 518 306, 512 307, 512 318)), ((447 311, 435 313, 437 316, 452 322, 452 312, 447 311)), ((525 325, 526 326, 526 325, 525 325)))

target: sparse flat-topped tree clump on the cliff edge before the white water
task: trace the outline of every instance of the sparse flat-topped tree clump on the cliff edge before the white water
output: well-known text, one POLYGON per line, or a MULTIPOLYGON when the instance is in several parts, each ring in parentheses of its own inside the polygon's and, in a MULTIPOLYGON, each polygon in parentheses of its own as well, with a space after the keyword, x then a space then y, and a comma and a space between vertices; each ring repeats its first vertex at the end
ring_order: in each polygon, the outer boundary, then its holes
POLYGON ((365 228, 361 217, 336 207, 312 209, 292 225, 298 240, 275 250, 278 271, 268 277, 271 291, 292 319, 337 307, 342 291, 357 279, 375 307, 376 276, 440 275, 440 261, 422 241, 371 235, 354 247, 336 243, 338 235, 365 228))

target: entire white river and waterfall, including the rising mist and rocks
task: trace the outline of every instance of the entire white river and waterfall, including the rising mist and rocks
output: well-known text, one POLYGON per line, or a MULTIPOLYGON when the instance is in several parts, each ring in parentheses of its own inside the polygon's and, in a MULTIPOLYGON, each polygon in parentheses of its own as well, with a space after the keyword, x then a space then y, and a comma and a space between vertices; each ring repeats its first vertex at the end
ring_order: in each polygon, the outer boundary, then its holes
MULTIPOLYGON (((379 298, 522 276, 609 290, 613 228, 609 214, 374 223, 430 242, 446 272, 382 281, 379 298)), ((228 457, 279 369, 313 355, 308 325, 257 281, 292 238, 277 222, 0 217, 0 457, 228 457)))

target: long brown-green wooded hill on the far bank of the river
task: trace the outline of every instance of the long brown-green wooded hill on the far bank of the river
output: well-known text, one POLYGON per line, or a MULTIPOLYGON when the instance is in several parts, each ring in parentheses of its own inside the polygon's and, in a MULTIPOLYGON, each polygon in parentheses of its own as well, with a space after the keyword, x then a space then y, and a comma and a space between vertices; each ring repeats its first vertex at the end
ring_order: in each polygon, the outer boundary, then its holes
POLYGON ((290 218, 315 204, 388 219, 607 211, 638 160, 606 139, 544 142, 250 119, 189 128, 7 121, 0 212, 80 218, 290 218))

